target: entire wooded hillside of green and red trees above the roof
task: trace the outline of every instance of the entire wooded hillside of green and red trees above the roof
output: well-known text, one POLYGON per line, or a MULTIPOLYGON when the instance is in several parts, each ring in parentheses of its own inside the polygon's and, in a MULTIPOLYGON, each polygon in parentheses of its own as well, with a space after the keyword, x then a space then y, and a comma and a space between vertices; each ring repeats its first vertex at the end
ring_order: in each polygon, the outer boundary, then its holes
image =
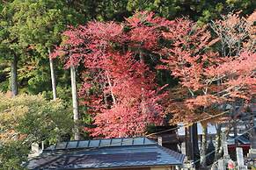
POLYGON ((34 142, 218 122, 256 94, 253 0, 0 3, 0 169, 34 142))

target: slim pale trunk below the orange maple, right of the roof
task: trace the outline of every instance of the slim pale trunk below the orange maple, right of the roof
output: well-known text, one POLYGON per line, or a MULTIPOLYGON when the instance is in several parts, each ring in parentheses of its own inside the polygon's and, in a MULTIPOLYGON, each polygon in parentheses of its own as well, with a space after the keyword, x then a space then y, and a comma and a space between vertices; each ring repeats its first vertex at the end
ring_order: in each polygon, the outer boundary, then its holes
POLYGON ((201 137, 201 167, 206 167, 207 140, 208 140, 208 130, 207 130, 207 126, 206 126, 206 127, 202 127, 202 137, 201 137))

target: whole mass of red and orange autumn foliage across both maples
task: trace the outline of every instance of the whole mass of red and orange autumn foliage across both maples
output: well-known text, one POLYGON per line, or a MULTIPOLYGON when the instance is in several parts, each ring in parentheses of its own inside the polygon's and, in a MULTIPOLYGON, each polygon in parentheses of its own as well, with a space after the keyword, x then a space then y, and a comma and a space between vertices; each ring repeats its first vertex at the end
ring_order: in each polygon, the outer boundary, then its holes
MULTIPOLYGON (((221 34, 213 36, 209 29, 187 18, 169 21, 138 12, 124 23, 90 22, 64 32, 66 39, 53 57, 62 56, 66 67, 84 66, 79 95, 94 118, 91 135, 138 136, 149 124, 163 123, 165 113, 173 114, 174 123, 194 122, 220 113, 223 104, 250 100, 256 87, 256 57, 248 48, 253 46, 252 35, 240 37, 246 46, 229 46, 226 54, 216 51, 223 42, 221 34), (159 55, 160 65, 149 64, 152 58, 159 61, 159 55), (179 79, 167 109, 165 93, 157 86, 157 69, 179 79)), ((252 27, 246 29, 252 32, 252 27)), ((237 35, 230 30, 227 35, 237 35)))

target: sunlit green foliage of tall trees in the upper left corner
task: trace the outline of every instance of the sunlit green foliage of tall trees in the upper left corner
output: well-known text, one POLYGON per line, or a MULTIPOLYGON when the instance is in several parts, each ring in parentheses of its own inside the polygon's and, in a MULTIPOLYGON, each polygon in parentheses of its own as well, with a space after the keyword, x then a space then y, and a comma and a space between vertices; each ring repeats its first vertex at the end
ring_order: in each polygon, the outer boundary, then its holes
POLYGON ((0 57, 4 61, 12 60, 16 72, 11 73, 16 75, 16 84, 19 61, 20 87, 26 87, 23 90, 32 94, 48 91, 49 52, 61 41, 61 32, 67 25, 77 25, 84 20, 66 1, 15 0, 5 3, 1 11, 0 57))

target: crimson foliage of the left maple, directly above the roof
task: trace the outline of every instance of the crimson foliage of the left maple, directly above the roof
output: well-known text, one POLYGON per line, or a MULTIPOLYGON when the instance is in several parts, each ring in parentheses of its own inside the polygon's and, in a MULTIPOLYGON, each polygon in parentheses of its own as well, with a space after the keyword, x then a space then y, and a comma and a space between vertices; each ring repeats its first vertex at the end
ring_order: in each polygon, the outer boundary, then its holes
POLYGON ((156 70, 145 60, 149 50, 157 52, 158 23, 164 22, 141 12, 124 24, 91 22, 64 32, 55 55, 66 57, 66 67, 83 63, 86 69, 79 95, 94 117, 92 136, 138 136, 163 122, 165 94, 158 93, 156 70))

